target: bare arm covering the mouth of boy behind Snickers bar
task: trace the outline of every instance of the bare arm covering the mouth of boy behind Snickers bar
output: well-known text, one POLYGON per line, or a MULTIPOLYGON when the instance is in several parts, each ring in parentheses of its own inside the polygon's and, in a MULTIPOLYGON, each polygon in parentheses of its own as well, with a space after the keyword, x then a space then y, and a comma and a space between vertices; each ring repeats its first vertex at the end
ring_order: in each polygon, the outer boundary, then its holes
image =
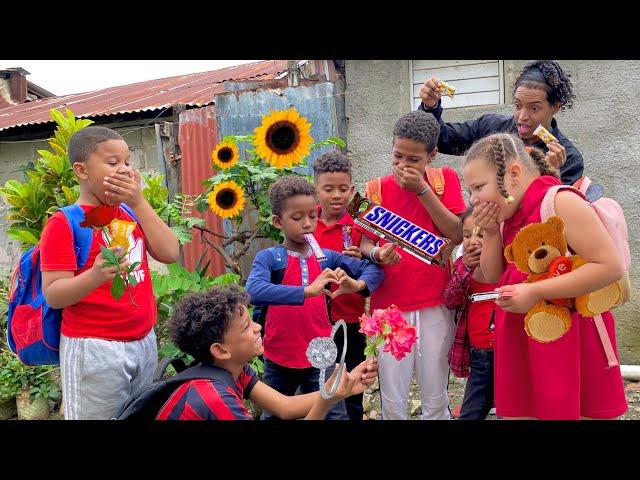
POLYGON ((460 218, 450 211, 433 192, 429 184, 424 179, 424 172, 407 166, 401 170, 396 165, 393 166, 393 173, 402 188, 420 195, 420 203, 427 210, 433 220, 434 225, 442 232, 442 235, 451 240, 454 244, 462 242, 462 222, 460 218))

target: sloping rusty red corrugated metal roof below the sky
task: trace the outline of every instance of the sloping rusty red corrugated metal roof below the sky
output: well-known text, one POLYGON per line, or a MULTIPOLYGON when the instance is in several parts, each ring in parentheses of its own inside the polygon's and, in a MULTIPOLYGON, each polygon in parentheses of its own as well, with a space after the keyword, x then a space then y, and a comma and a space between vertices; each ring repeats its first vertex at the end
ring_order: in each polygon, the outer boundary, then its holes
POLYGON ((0 131, 51 122, 52 108, 71 109, 76 117, 161 110, 173 105, 204 106, 224 91, 227 80, 272 79, 287 68, 284 60, 265 60, 210 72, 160 78, 92 92, 44 98, 0 109, 0 131))

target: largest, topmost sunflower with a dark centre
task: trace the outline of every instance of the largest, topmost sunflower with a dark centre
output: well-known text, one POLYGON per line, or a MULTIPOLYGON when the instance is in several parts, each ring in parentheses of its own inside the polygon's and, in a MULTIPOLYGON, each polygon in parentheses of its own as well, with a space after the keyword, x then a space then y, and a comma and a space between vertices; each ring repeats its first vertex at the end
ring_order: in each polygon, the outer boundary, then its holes
POLYGON ((292 167, 309 154, 311 124, 295 108, 263 115, 253 141, 258 155, 276 168, 292 167))

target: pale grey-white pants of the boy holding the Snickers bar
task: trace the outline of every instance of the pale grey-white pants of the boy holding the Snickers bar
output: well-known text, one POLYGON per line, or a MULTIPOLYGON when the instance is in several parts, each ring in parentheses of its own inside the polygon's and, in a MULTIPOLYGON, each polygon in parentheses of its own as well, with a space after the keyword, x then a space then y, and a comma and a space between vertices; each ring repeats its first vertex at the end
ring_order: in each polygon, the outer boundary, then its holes
POLYGON ((449 420, 449 363, 447 353, 453 342, 453 311, 444 305, 403 312, 416 327, 418 339, 402 360, 391 353, 378 354, 380 399, 383 420, 406 420, 412 373, 420 387, 422 420, 449 420))

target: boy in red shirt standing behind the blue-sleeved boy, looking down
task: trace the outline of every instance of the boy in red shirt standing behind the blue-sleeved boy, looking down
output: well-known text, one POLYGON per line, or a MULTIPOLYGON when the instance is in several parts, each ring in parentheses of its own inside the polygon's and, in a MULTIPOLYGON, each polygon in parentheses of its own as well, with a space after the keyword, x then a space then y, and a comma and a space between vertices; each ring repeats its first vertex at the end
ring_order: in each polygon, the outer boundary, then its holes
MULTIPOLYGON (((347 213, 347 204, 353 195, 351 162, 341 152, 329 152, 313 162, 313 177, 318 194, 318 227, 315 237, 318 244, 343 255, 361 259, 362 234, 353 228, 353 219, 347 213)), ((337 289, 332 287, 332 291, 337 289)), ((360 316, 365 312, 365 298, 357 293, 347 293, 331 301, 330 319, 342 319, 347 324, 347 356, 345 363, 351 370, 364 361, 366 337, 360 333, 360 316)), ((342 336, 336 336, 338 358, 342 352, 342 336)), ((347 414, 351 420, 362 420, 362 394, 345 398, 347 414)))

